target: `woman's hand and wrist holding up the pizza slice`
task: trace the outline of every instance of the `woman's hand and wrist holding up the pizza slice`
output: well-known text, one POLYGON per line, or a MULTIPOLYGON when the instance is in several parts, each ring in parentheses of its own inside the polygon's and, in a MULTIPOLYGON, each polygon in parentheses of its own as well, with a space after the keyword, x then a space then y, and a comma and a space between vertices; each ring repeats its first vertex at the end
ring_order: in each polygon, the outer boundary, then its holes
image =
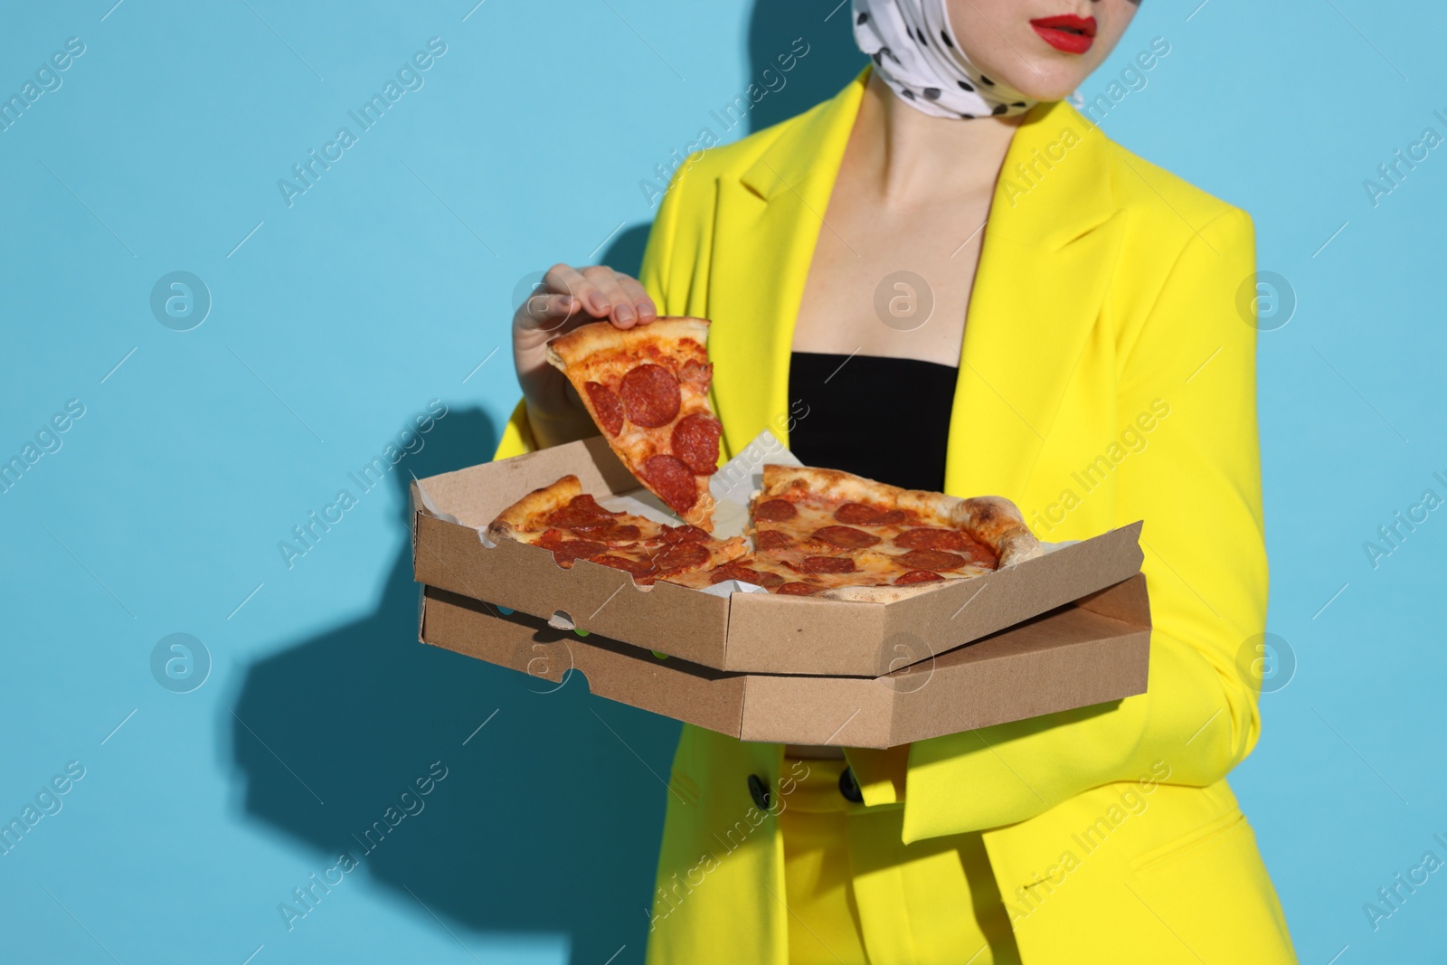
POLYGON ((589 321, 644 326, 658 310, 637 279, 605 265, 554 265, 512 315, 512 363, 540 449, 593 434, 592 420, 561 372, 547 363, 547 343, 589 321))

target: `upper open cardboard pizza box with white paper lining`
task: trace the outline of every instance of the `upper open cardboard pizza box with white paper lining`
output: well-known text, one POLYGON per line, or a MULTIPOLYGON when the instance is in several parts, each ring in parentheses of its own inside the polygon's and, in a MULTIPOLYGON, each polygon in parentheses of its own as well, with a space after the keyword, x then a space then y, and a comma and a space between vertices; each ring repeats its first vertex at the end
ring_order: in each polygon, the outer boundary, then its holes
MULTIPOLYGON (((763 464, 789 459, 765 433, 721 467, 721 531, 742 527, 763 464)), ((622 570, 587 560, 564 570, 541 547, 485 537, 502 509, 567 473, 605 505, 616 496, 661 509, 601 435, 430 476, 412 483, 417 582, 713 670, 878 677, 1120 583, 1143 558, 1136 522, 909 599, 857 603, 724 584, 640 587, 622 570)))

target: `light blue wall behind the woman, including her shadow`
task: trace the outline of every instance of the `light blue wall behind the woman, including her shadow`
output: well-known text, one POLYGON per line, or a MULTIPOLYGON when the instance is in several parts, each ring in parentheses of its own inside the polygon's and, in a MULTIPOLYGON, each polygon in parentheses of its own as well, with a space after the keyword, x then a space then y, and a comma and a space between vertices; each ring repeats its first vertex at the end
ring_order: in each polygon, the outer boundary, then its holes
MULTIPOLYGON (((113 1, 9 3, 0 30, 3 93, 85 43, 0 133, 0 456, 85 407, 0 495, 0 816, 85 767, 0 856, 0 958, 640 961, 676 725, 417 645, 402 480, 491 454, 519 279, 635 268, 638 182, 796 36, 750 126, 842 85, 846 9, 113 1), (288 207, 276 181, 434 36, 425 85, 288 207), (214 299, 191 331, 149 310, 172 271, 214 299), (425 447, 288 569, 278 541, 434 398, 425 447), (174 632, 214 661, 192 693, 150 674, 174 632), (278 903, 433 761, 425 810, 288 930, 278 903)), ((1379 207, 1362 182, 1447 133, 1440 10, 1197 1, 1146 3, 1084 93, 1166 38, 1104 127, 1249 210, 1298 299, 1260 340, 1270 631, 1298 667, 1233 783, 1304 962, 1427 961, 1447 875, 1378 932, 1362 904, 1447 836, 1447 511, 1378 569, 1362 544, 1447 496, 1447 153, 1379 207)))

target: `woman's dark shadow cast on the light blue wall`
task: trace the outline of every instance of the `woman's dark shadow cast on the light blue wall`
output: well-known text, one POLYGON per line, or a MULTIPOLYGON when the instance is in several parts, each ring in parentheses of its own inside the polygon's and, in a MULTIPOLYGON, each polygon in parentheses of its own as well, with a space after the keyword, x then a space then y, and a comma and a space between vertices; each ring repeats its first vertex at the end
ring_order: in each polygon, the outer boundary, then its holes
MULTIPOLYGON (((833 95, 862 67, 848 6, 835 1, 755 4, 751 78, 776 90, 752 106, 748 130, 833 95), (780 85, 764 71, 777 72, 796 38, 809 54, 780 85)), ((599 262, 637 275, 647 237, 647 224, 621 231, 599 262)), ((425 477, 486 462, 498 425, 454 409, 425 438, 392 473, 399 535, 410 524, 402 470, 425 477)), ((315 874, 269 898, 275 940, 320 927, 314 919, 350 891, 382 887, 424 920, 560 938, 574 965, 621 946, 618 965, 642 961, 667 797, 657 775, 679 725, 595 700, 576 677, 547 693, 532 677, 418 644, 405 543, 370 613, 252 664, 236 716, 223 720, 245 809, 310 849, 315 874)))

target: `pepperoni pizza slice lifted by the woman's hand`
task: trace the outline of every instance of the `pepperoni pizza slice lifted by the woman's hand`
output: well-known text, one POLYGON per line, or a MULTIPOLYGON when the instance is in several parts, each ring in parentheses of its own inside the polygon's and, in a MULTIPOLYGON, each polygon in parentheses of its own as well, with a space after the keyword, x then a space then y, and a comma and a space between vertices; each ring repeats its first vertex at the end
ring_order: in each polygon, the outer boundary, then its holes
POLYGON ((606 321, 548 343, 624 466, 684 522, 713 531, 709 476, 722 427, 709 407, 709 323, 658 318, 627 331, 606 321))

